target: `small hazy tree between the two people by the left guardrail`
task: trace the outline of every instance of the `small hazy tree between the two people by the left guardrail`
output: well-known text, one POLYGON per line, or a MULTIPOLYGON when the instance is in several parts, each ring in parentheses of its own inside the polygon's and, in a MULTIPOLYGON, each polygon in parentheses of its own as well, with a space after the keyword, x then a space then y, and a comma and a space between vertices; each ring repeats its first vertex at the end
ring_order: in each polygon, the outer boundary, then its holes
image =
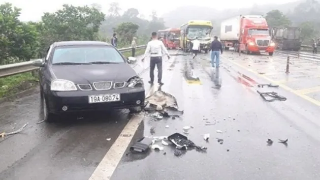
POLYGON ((125 22, 118 25, 115 31, 121 37, 121 43, 128 43, 132 41, 132 38, 135 36, 138 29, 138 25, 131 22, 125 22))

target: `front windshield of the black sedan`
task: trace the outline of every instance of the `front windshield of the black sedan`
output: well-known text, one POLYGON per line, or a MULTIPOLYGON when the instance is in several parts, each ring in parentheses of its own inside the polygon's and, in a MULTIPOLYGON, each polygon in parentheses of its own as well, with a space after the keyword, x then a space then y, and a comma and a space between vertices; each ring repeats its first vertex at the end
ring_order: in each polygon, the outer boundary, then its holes
POLYGON ((111 46, 64 46, 55 49, 52 64, 123 63, 121 54, 111 46))

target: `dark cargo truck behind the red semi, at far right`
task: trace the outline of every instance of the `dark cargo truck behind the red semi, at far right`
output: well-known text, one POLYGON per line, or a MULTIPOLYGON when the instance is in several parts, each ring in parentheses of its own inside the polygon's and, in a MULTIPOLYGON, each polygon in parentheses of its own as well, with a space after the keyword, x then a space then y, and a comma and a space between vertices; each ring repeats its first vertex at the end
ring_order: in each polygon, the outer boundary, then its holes
POLYGON ((301 29, 296 27, 275 27, 271 30, 272 41, 276 43, 279 50, 299 51, 301 29))

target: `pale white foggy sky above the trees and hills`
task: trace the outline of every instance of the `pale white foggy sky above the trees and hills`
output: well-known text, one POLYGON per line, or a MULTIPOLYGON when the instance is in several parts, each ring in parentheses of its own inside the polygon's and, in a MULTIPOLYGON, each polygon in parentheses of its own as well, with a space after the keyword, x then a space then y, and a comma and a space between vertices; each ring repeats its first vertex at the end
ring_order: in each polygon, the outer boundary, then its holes
MULTIPOLYGON (((38 21, 41 19, 43 12, 54 12, 62 7, 62 4, 73 5, 90 5, 92 3, 98 3, 102 6, 102 11, 106 14, 109 8, 109 3, 113 0, 0 0, 0 3, 10 2, 14 6, 22 8, 20 20, 22 21, 38 21)), ((196 4, 192 0, 115 0, 120 4, 120 7, 124 10, 133 7, 137 8, 140 14, 143 14, 146 18, 149 17, 152 10, 156 10, 158 15, 174 10, 179 6, 185 5, 197 5, 207 6, 218 10, 228 8, 243 8, 251 7, 256 4, 282 4, 287 2, 293 2, 296 0, 264 0, 258 2, 257 0, 196 0, 196 4), (183 2, 183 3, 182 3, 183 2), (216 3, 219 6, 216 6, 216 3), (144 4, 143 6, 141 4, 144 4), (157 5, 155 5, 157 4, 157 5)))

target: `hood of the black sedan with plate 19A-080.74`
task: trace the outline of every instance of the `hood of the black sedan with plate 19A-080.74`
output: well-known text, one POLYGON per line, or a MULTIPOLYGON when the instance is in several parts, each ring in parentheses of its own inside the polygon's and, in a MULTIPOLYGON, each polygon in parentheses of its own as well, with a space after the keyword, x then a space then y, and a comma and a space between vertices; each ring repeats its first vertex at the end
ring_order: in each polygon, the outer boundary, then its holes
POLYGON ((52 65, 51 69, 57 79, 69 80, 75 84, 128 81, 129 78, 137 75, 127 63, 52 65))

